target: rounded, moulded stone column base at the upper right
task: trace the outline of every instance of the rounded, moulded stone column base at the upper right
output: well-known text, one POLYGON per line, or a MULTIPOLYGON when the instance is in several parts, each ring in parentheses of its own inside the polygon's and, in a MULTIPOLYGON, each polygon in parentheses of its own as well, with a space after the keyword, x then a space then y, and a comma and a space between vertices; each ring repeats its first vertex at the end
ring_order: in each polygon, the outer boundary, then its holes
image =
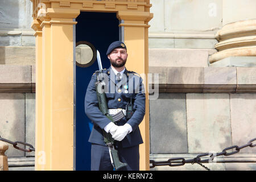
POLYGON ((209 57, 209 63, 230 56, 256 56, 256 19, 226 24, 216 34, 218 52, 209 57))

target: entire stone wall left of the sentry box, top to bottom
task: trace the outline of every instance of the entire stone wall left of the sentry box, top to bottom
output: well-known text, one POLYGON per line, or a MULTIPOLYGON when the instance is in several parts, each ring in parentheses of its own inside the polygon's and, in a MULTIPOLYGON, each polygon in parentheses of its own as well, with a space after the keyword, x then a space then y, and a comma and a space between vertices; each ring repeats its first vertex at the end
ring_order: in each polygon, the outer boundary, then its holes
MULTIPOLYGON (((0 1, 0 135, 35 147, 35 37, 31 15, 30 0, 0 1)), ((6 155, 9 170, 34 169, 34 152, 19 151, 9 144, 6 155)))

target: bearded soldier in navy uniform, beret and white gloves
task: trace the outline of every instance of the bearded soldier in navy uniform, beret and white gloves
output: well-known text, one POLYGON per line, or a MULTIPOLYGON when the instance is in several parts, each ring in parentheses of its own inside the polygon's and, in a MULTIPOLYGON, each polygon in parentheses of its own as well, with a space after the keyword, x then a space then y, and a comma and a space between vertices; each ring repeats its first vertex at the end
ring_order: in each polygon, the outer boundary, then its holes
POLYGON ((118 151, 119 160, 127 163, 123 170, 139 170, 139 144, 143 143, 139 124, 145 113, 145 94, 142 78, 135 72, 127 71, 127 49, 123 42, 116 41, 110 44, 106 52, 110 60, 110 68, 103 72, 109 79, 106 87, 111 92, 106 93, 110 114, 122 110, 125 113, 127 105, 132 104, 133 114, 122 118, 116 124, 111 122, 98 107, 96 94, 96 74, 92 76, 86 90, 85 114, 93 122, 93 129, 89 137, 91 148, 91 170, 113 170, 110 162, 109 149, 104 143, 102 131, 110 133, 115 140, 114 147, 118 151), (137 81, 136 81, 137 80, 137 81), (111 89, 111 85, 115 89, 111 89), (131 103, 130 103, 131 102, 131 103))

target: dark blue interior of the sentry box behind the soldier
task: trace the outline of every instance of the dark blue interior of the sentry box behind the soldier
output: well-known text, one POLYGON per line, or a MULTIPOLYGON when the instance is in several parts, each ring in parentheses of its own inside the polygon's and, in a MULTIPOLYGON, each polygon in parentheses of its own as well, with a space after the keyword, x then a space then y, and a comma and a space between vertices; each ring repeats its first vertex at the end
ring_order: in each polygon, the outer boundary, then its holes
MULTIPOLYGON (((119 39, 119 21, 115 13, 81 12, 76 18, 76 42, 86 41, 100 52, 102 67, 109 68, 106 51, 110 43, 119 39)), ((85 115, 84 98, 97 60, 87 68, 76 66, 76 170, 90 170, 90 143, 92 122, 85 115)))

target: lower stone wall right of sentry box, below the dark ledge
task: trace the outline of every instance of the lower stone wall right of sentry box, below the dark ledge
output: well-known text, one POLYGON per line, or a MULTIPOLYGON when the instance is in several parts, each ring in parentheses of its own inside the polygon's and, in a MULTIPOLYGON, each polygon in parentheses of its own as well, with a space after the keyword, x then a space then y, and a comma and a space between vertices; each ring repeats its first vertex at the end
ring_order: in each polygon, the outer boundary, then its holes
MULTIPOLYGON (((151 159, 174 157, 193 159, 198 154, 217 153, 230 146, 242 146, 255 138, 256 94, 251 93, 161 93, 150 101, 151 159)), ((255 148, 239 154, 217 157, 233 164, 205 163, 212 170, 255 170, 255 148), (241 159, 250 164, 241 166, 241 159)), ((200 166, 199 166, 200 167, 200 166)), ((176 170, 176 167, 155 167, 176 170)), ((204 169, 185 164, 179 170, 204 169)))

